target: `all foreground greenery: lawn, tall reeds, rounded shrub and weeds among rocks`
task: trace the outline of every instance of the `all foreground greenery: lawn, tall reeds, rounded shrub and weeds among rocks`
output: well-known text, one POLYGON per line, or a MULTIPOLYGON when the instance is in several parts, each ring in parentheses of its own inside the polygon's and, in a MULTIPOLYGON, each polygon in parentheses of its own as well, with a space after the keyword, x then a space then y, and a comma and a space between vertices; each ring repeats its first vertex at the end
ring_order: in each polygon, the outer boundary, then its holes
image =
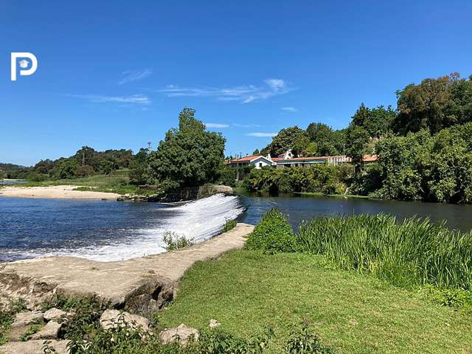
POLYGON ((42 310, 75 313, 60 333, 71 353, 468 353, 471 249, 471 233, 428 220, 324 217, 294 233, 274 209, 244 249, 187 271, 177 297, 146 314, 152 335, 102 329, 107 306, 94 300, 59 297, 42 310), (201 329, 199 341, 161 345, 156 333, 182 322, 201 329))

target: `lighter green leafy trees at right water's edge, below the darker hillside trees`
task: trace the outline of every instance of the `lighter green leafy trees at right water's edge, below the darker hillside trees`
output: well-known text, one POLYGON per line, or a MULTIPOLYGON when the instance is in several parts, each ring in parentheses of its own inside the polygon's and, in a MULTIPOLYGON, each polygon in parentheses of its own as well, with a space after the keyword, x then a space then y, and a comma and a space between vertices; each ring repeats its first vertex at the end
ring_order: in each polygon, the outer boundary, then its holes
POLYGON ((380 198, 472 202, 472 122, 377 143, 379 163, 362 172, 358 192, 380 198))

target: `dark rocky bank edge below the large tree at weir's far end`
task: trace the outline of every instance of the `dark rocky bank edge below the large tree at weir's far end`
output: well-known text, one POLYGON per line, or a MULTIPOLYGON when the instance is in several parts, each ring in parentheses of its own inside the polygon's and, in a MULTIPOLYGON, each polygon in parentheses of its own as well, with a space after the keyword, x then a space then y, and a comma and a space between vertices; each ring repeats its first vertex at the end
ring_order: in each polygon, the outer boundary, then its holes
MULTIPOLYGON (((147 191, 154 191, 157 188, 157 186, 142 186, 142 189, 147 191)), ((228 185, 182 187, 167 192, 156 192, 150 195, 124 194, 120 195, 117 200, 135 202, 181 202, 206 198, 217 193, 233 194, 233 188, 228 185)))

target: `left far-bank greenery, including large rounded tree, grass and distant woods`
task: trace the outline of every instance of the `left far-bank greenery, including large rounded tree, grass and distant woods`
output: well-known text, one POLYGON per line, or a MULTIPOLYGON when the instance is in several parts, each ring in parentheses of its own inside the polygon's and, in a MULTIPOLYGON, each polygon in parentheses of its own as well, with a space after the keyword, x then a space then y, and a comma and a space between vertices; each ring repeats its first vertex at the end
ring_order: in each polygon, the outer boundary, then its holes
POLYGON ((195 110, 184 108, 178 127, 170 129, 157 150, 97 152, 88 146, 75 155, 42 160, 33 167, 0 164, 1 178, 24 178, 22 186, 80 185, 79 190, 119 194, 159 194, 178 187, 218 183, 226 139, 206 131, 195 110), (149 190, 138 185, 152 185, 149 190))

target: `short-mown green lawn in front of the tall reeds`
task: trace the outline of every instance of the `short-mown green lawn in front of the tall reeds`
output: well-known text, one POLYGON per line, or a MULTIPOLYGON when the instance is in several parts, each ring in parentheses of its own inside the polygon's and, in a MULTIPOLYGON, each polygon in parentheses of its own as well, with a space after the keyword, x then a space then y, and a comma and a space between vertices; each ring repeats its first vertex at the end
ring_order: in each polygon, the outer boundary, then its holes
POLYGON ((472 353, 471 314, 303 253, 239 250, 199 262, 159 314, 162 326, 205 328, 217 319, 242 337, 271 326, 269 353, 281 353, 291 325, 304 318, 337 353, 472 353))

